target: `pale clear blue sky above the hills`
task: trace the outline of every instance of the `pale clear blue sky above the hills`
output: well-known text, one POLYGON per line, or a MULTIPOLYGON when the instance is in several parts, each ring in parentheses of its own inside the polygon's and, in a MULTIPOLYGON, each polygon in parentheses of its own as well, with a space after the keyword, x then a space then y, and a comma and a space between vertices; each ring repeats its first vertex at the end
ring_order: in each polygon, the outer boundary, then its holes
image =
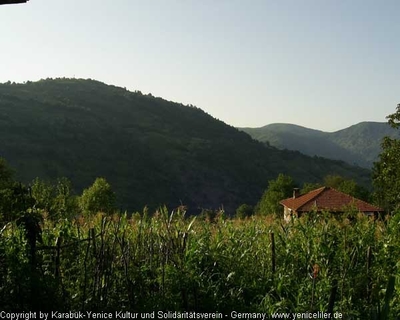
POLYGON ((91 78, 235 127, 336 131, 400 103, 398 0, 29 0, 0 6, 0 82, 91 78))

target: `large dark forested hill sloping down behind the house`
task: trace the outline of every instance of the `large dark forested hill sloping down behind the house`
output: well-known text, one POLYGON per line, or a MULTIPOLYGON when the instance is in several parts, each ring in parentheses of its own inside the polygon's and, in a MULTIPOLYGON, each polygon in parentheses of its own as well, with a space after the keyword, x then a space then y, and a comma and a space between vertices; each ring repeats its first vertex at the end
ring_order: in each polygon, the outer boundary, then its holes
POLYGON ((105 177, 121 208, 145 205, 232 212, 254 204, 279 173, 299 183, 369 171, 266 148, 201 109, 94 80, 0 85, 0 156, 29 183, 69 178, 76 192, 105 177))

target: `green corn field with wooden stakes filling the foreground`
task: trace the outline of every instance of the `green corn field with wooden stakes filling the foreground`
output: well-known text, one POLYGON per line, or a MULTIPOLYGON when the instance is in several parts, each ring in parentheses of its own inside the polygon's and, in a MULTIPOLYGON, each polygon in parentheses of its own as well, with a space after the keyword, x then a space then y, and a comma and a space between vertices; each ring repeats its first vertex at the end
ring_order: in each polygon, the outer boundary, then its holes
POLYGON ((396 216, 32 217, 0 230, 1 310, 400 316, 396 216))

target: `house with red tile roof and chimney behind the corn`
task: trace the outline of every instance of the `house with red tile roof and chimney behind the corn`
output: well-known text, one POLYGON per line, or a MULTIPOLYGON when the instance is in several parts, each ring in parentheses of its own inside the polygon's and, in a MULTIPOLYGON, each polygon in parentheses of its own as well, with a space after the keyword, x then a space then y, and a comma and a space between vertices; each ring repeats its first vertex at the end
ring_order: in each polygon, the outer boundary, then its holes
POLYGON ((318 188, 303 195, 299 194, 299 189, 294 189, 293 197, 282 200, 280 204, 283 206, 286 221, 290 221, 293 216, 300 217, 310 211, 343 213, 353 208, 374 216, 384 212, 382 208, 330 187, 318 188))

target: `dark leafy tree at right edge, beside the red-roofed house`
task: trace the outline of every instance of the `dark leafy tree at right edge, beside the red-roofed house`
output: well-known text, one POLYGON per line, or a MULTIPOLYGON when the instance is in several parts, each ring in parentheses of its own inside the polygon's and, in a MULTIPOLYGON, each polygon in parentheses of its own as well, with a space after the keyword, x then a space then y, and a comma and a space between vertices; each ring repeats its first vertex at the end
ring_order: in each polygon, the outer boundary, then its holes
MULTIPOLYGON (((392 128, 400 128, 400 104, 386 117, 392 128)), ((382 152, 373 167, 373 184, 377 203, 391 212, 400 208, 400 140, 385 137, 382 152)))

